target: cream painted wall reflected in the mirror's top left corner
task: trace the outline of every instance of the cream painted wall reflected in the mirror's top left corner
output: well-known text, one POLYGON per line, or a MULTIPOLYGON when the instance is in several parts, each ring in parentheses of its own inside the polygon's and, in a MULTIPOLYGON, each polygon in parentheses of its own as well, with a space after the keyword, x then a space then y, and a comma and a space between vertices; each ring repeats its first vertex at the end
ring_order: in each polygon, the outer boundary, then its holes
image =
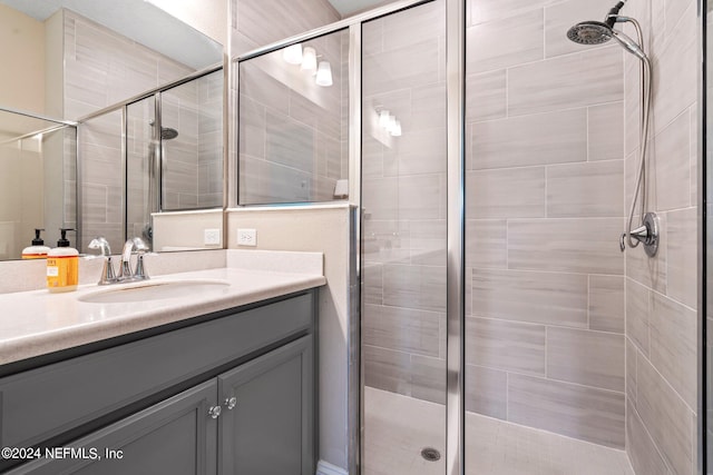
POLYGON ((0 4, 0 105, 43 115, 45 26, 0 4))

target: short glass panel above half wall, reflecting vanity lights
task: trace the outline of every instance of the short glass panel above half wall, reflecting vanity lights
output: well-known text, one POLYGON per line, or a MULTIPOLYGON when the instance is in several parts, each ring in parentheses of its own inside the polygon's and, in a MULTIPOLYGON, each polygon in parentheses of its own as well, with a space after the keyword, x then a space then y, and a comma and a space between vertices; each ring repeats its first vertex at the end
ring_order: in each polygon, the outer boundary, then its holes
POLYGON ((240 62, 238 204, 346 198, 349 33, 240 62))

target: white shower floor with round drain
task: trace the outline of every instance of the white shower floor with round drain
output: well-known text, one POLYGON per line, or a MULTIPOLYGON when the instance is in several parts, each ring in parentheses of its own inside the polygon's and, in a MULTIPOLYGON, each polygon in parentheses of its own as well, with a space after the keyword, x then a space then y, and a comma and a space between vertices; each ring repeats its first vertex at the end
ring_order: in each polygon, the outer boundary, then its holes
MULTIPOLYGON (((446 409, 364 388, 364 475, 442 475, 446 409), (441 453, 424 461, 424 447, 441 453)), ((466 414, 467 475, 634 475, 626 453, 570 437, 466 414)))

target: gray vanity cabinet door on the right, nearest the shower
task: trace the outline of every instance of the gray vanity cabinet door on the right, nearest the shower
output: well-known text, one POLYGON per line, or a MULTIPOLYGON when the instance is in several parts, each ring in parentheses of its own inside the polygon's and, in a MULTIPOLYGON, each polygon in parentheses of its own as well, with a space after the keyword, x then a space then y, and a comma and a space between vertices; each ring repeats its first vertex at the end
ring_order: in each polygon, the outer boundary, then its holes
POLYGON ((223 475, 314 474, 313 374, 305 336, 218 376, 223 475))

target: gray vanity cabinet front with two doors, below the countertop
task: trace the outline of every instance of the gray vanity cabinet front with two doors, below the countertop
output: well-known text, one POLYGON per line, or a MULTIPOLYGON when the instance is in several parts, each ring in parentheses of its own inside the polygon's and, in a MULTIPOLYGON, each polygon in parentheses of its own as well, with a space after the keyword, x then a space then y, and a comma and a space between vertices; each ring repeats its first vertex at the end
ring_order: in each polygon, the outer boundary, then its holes
MULTIPOLYGON (((75 451, 33 459, 8 473, 313 474, 314 291, 225 314, 0 378, 0 443, 40 441, 32 446, 42 454, 47 446, 75 451), (136 358, 144 355, 152 359, 137 366, 136 358), (130 366, 119 364, 127 360, 130 366), (97 372, 97 366, 105 372, 97 372), (180 380, 177 366, 185 375, 180 380), (91 386, 64 387, 58 375, 68 382, 91 375, 85 378, 91 386), (127 382, 131 387, 124 388, 127 382), (50 420, 35 420, 36 400, 28 395, 43 383, 46 395, 52 394, 50 385, 61 386, 55 394, 69 393, 75 403, 57 406, 56 410, 66 407, 65 414, 50 420), (123 404, 116 397, 94 400, 101 387, 117 384, 123 404), (107 424, 91 422, 117 413, 107 424), (31 424, 20 431, 22 414, 31 424), (47 437, 67 427, 71 436, 47 437)), ((52 398, 48 402, 55 404, 52 398)), ((0 472, 4 473, 2 466, 0 472)))

